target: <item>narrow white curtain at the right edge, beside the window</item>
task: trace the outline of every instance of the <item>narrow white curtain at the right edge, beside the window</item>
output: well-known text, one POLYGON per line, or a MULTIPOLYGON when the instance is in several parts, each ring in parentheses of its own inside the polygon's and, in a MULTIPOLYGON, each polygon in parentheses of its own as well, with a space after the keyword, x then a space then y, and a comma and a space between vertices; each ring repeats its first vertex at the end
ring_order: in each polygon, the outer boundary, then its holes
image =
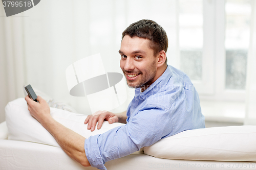
POLYGON ((247 59, 246 114, 244 125, 256 125, 256 3, 252 1, 250 48, 247 59))

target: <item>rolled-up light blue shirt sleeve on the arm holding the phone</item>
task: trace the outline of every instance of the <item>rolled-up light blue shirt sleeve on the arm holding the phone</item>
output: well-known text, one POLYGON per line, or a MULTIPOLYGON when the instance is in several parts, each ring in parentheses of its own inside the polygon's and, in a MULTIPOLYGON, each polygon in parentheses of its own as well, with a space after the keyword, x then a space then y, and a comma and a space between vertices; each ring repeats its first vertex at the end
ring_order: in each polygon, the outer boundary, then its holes
POLYGON ((162 106, 146 105, 124 126, 84 141, 88 161, 106 169, 104 163, 150 146, 172 132, 172 118, 162 106))

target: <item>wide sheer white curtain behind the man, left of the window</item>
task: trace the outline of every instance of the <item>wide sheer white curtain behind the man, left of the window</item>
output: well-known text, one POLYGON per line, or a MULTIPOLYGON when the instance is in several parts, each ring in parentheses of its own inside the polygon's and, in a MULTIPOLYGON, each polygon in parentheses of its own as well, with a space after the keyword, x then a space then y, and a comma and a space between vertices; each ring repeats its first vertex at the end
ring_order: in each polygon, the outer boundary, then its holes
MULTIPOLYGON (((91 114, 84 97, 71 96, 66 68, 75 61, 101 54, 106 72, 120 72, 121 34, 140 19, 157 21, 169 38, 168 63, 175 66, 177 50, 177 2, 135 0, 44 0, 23 13, 5 16, 0 6, 0 122, 9 101, 24 97, 31 84, 53 99, 72 105, 79 113, 91 114)), ((114 110, 124 111, 133 99, 114 110)))

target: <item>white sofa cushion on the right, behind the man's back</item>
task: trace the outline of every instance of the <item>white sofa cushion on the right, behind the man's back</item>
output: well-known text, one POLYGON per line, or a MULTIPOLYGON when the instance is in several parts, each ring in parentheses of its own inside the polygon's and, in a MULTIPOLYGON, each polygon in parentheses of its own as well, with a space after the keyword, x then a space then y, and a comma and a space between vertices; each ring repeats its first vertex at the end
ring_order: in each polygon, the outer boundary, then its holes
POLYGON ((144 153, 157 158, 256 161, 256 126, 188 130, 159 140, 144 153))

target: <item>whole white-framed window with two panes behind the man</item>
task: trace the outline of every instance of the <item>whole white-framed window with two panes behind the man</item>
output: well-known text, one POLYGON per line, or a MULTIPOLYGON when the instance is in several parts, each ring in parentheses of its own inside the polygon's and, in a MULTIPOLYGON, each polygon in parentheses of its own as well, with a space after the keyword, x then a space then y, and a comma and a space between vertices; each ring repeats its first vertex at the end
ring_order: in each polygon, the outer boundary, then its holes
POLYGON ((179 68, 200 99, 245 100, 250 0, 179 1, 179 68))

